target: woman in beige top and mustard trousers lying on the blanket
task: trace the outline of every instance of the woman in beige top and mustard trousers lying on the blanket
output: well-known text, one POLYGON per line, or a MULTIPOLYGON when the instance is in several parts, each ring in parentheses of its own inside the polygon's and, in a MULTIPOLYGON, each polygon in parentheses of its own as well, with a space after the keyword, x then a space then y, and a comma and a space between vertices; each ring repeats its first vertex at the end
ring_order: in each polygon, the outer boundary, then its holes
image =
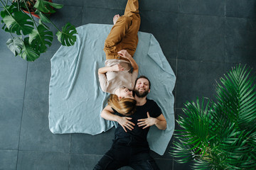
POLYGON ((113 23, 114 26, 105 40, 105 67, 100 68, 98 74, 102 91, 112 94, 109 102, 112 106, 117 106, 117 99, 120 102, 125 99, 134 103, 132 90, 139 72, 139 67, 133 59, 140 26, 138 1, 129 0, 124 16, 114 16, 113 23))

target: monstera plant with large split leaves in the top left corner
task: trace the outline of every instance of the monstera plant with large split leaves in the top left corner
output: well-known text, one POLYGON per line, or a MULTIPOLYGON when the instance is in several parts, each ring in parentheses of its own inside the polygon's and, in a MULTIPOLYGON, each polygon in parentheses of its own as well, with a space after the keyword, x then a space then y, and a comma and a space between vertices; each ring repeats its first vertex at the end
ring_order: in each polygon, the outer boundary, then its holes
POLYGON ((53 32, 46 23, 51 23, 58 30, 56 33, 58 41, 62 45, 74 45, 77 30, 75 26, 66 23, 59 30, 48 18, 48 13, 55 13, 53 8, 62 8, 61 4, 54 4, 46 0, 0 0, 2 8, 2 27, 11 37, 6 45, 15 56, 20 55, 24 60, 34 61, 41 53, 46 52, 52 45, 53 32), (33 18, 32 13, 40 18, 33 18), (28 13, 28 14, 27 14, 28 13), (18 36, 14 37, 13 34, 18 36))

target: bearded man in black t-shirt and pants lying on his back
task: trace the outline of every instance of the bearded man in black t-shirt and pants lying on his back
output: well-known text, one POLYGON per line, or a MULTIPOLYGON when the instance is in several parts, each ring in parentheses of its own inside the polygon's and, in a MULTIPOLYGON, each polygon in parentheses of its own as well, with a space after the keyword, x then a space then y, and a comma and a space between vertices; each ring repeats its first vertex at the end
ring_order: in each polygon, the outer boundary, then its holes
POLYGON ((149 155, 149 144, 146 135, 149 127, 156 125, 160 130, 166 129, 166 119, 156 102, 146 98, 150 92, 150 81, 139 77, 134 87, 137 108, 133 115, 124 116, 106 106, 101 116, 107 120, 117 121, 114 142, 111 149, 95 166, 99 169, 119 169, 131 166, 135 170, 159 169, 149 155))

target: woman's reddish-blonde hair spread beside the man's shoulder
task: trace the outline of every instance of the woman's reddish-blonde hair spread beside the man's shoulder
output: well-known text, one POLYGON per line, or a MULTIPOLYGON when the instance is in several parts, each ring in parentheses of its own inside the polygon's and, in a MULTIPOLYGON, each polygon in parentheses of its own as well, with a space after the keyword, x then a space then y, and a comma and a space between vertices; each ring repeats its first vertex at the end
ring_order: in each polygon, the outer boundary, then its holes
POLYGON ((135 112, 136 101, 132 98, 121 98, 111 94, 108 104, 122 115, 132 115, 135 112))

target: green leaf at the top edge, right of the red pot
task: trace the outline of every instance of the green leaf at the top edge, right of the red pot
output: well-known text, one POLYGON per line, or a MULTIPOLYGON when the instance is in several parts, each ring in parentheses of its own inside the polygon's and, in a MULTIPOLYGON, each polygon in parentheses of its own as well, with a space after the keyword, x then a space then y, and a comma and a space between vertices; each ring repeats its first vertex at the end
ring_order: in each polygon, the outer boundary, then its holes
POLYGON ((39 11, 42 11, 43 13, 55 13, 52 7, 62 8, 63 5, 51 3, 49 1, 44 0, 37 0, 36 4, 34 5, 34 8, 37 8, 39 11))

